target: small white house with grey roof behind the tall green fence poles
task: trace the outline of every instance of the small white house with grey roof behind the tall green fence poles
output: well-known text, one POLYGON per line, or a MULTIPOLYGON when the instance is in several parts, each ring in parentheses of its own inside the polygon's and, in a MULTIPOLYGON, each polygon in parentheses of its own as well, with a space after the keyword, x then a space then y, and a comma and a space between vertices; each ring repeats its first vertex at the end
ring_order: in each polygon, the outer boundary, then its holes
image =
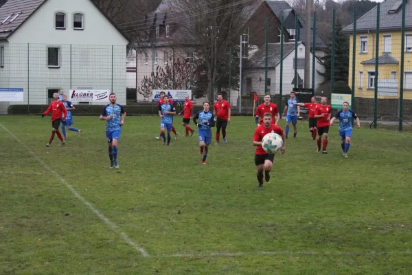
MULTIPOLYGON (((282 93, 288 94, 293 90, 295 81, 295 43, 284 43, 283 72, 280 72, 280 43, 268 44, 268 92, 279 94, 280 78, 282 77, 282 93)), ((316 56, 316 54, 315 54, 316 56)), ((255 52, 244 65, 242 74, 242 94, 256 92, 258 95, 265 93, 265 47, 255 52)), ((298 85, 302 85, 305 68, 305 45, 297 44, 297 77, 298 85)), ((325 72, 319 58, 315 57, 315 70, 325 72)), ((310 87, 312 87, 312 74, 314 75, 314 89, 323 82, 323 77, 317 72, 312 72, 312 52, 310 53, 310 87)))

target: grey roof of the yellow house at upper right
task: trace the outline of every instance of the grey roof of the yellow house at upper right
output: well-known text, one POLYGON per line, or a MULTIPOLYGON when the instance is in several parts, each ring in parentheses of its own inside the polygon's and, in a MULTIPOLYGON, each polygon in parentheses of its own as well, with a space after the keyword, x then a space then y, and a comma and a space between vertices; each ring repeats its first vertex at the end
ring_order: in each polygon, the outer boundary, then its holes
MULTIPOLYGON (((405 28, 412 30, 412 1, 407 0, 405 5, 405 28)), ((376 31, 376 18, 377 7, 372 8, 363 15, 360 19, 356 20, 356 32, 376 31)), ((380 21, 379 30, 400 30, 402 27, 402 0, 386 0, 380 3, 380 21), (389 12, 393 10, 392 12, 389 12)), ((350 24, 343 28, 343 32, 352 33, 354 24, 350 24)))

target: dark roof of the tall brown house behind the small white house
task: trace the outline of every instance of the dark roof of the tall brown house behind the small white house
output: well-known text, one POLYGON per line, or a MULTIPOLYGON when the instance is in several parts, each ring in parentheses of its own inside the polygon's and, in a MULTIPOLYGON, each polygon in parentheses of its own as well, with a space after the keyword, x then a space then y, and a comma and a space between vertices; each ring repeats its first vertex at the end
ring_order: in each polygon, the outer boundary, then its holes
MULTIPOLYGON (((295 18, 295 14, 297 15, 297 19, 299 20, 300 25, 302 26, 302 28, 299 29, 299 41, 302 42, 306 42, 306 21, 304 21, 303 18, 301 18, 299 16, 299 14, 297 14, 295 12, 295 10, 293 10, 292 7, 290 7, 290 5, 288 4, 288 2, 286 1, 273 1, 273 0, 266 0, 266 3, 268 3, 269 7, 271 7, 271 9, 273 10, 273 12, 275 12, 276 17, 279 19, 284 18, 284 20, 286 20, 286 18, 289 15, 293 15, 293 17, 295 18)), ((313 43, 313 26, 310 26, 310 45, 312 47, 312 43, 313 43)), ((323 41, 318 35, 316 35, 316 47, 327 47, 325 41, 323 41)))

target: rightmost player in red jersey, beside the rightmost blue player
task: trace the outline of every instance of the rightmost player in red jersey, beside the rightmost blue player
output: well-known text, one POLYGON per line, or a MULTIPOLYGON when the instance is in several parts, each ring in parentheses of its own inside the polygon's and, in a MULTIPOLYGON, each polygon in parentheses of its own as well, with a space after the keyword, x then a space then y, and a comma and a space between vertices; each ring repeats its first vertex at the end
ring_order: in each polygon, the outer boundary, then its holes
POLYGON ((317 129, 319 137, 317 140, 318 153, 321 153, 322 135, 323 135, 323 154, 327 154, 326 147, 328 146, 328 132, 330 125, 330 114, 332 113, 332 108, 330 105, 326 104, 328 99, 325 96, 321 98, 321 104, 318 105, 317 110, 314 113, 314 118, 317 118, 317 129))

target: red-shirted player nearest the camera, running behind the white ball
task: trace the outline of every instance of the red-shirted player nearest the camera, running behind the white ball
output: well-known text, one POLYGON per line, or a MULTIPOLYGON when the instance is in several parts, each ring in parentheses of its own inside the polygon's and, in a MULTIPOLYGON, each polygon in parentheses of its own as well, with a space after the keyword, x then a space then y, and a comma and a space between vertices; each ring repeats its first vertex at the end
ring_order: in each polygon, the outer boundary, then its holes
POLYGON ((256 177, 258 177, 260 188, 263 187, 263 171, 264 179, 267 182, 269 181, 269 179, 271 179, 269 172, 271 172, 273 166, 274 155, 266 153, 262 148, 262 138, 268 133, 277 133, 278 135, 282 136, 284 144, 281 150, 283 155, 285 153, 284 131, 279 126, 272 124, 272 113, 264 113, 263 124, 259 125, 258 128, 256 128, 255 135, 253 135, 253 146, 258 146, 255 151, 255 165, 256 168, 258 168, 256 177))

